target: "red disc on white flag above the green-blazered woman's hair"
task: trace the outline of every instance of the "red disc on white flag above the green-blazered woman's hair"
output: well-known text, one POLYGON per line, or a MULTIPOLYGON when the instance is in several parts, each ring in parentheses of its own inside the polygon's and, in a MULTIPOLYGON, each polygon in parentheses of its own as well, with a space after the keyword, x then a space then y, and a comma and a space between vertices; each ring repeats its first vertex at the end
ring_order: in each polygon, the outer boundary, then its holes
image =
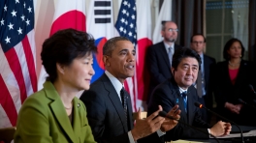
POLYGON ((80 11, 69 11, 61 14, 53 23, 50 29, 50 36, 61 29, 74 28, 80 31, 85 31, 85 15, 80 11), (74 22, 76 21, 76 22, 74 22))

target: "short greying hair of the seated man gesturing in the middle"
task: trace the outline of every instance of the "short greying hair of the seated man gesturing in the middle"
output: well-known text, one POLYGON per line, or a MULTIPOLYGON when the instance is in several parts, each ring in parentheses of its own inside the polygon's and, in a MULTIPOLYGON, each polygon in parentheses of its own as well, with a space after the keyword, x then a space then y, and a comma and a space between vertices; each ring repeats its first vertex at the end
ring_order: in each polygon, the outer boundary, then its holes
POLYGON ((116 46, 115 44, 119 41, 129 41, 129 39, 125 37, 114 37, 108 40, 107 43, 103 45, 103 55, 112 56, 112 50, 116 46))

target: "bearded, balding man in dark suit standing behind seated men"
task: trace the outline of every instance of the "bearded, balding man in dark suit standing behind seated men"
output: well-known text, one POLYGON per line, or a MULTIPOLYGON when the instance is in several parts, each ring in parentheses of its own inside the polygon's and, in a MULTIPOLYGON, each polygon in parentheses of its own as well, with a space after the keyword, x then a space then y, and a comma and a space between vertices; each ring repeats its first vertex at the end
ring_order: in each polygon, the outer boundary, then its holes
POLYGON ((166 79, 172 77, 171 64, 173 54, 176 49, 181 47, 176 44, 177 26, 173 21, 162 21, 161 35, 163 42, 155 43, 148 47, 146 53, 146 63, 150 74, 149 95, 152 90, 166 79))

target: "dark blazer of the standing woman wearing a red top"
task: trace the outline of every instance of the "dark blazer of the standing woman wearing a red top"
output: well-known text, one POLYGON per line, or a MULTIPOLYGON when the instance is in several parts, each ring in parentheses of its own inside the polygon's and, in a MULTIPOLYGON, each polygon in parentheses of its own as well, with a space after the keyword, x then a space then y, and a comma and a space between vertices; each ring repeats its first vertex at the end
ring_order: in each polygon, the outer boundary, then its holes
POLYGON ((256 119, 251 116, 256 113, 255 109, 243 105, 240 110, 240 115, 237 115, 231 113, 231 111, 224 107, 224 104, 227 101, 234 104, 240 103, 238 99, 254 104, 253 100, 256 99, 256 96, 250 90, 249 84, 256 87, 256 66, 252 62, 241 60, 239 73, 236 82, 233 85, 230 80, 228 64, 228 61, 224 61, 217 63, 216 66, 214 95, 216 98, 217 109, 224 117, 233 120, 237 124, 256 126, 256 119))

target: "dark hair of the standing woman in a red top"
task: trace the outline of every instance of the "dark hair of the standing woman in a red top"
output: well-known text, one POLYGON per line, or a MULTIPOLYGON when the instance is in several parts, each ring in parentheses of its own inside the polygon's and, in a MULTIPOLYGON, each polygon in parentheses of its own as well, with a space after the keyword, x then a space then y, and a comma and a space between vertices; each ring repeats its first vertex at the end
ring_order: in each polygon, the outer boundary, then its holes
POLYGON ((241 53, 240 53, 240 56, 241 56, 241 57, 240 57, 240 58, 243 57, 244 50, 245 50, 244 46, 242 45, 242 43, 240 42, 239 39, 232 38, 232 39, 230 39, 230 40, 225 44, 224 49, 223 49, 223 58, 224 58, 225 60, 227 60, 227 61, 230 60, 230 55, 229 55, 229 53, 228 53, 228 50, 230 49, 231 45, 232 45, 233 43, 236 43, 236 42, 240 43, 240 47, 241 47, 241 53))

